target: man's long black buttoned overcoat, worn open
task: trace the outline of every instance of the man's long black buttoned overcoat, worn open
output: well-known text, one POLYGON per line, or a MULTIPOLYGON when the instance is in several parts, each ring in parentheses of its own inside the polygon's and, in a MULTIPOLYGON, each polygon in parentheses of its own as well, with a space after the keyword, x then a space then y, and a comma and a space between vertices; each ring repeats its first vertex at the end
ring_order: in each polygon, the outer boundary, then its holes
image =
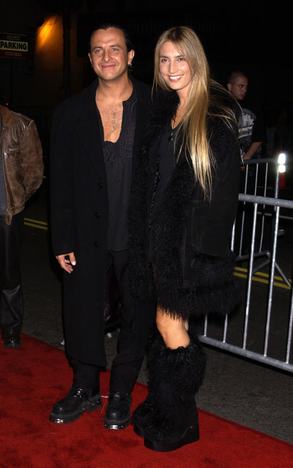
MULTIPOLYGON (((138 95, 132 173, 151 87, 131 77, 138 95)), ((106 366, 103 287, 108 237, 108 192, 95 103, 98 79, 56 109, 51 127, 51 233, 54 255, 74 252, 73 272, 64 272, 64 325, 67 353, 81 362, 106 366)), ((137 302, 137 312, 143 308, 137 302)), ((144 342, 140 322, 137 353, 144 342)))

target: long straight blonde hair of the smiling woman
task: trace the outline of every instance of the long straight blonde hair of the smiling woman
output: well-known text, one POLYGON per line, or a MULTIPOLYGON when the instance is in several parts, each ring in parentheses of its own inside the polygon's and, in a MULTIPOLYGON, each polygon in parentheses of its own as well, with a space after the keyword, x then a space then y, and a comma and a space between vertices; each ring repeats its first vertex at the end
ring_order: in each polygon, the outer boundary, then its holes
POLYGON ((186 112, 176 133, 176 135, 181 134, 183 136, 178 158, 182 150, 186 155, 190 155, 195 181, 200 183, 205 196, 210 197, 212 189, 211 169, 214 158, 206 135, 206 117, 207 115, 217 115, 223 118, 232 129, 232 122, 235 122, 234 112, 229 107, 215 102, 214 97, 211 96, 210 88, 221 89, 227 95, 229 94, 218 83, 211 80, 204 48, 193 29, 187 26, 170 28, 159 37, 154 53, 153 89, 154 87, 157 89, 159 86, 170 91, 160 73, 160 51, 162 45, 167 41, 172 42, 177 51, 186 59, 192 77, 186 112), (212 104, 213 112, 208 109, 209 104, 212 104), (217 108, 216 112, 215 107, 217 108))

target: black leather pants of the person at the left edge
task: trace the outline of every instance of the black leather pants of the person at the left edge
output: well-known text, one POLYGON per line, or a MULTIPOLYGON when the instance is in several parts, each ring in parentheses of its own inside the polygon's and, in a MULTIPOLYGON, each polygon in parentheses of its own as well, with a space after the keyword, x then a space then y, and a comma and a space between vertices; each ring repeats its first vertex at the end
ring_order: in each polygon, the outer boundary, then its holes
POLYGON ((20 273, 20 244, 23 211, 5 222, 0 211, 0 326, 3 335, 19 335, 22 329, 23 299, 20 273))

